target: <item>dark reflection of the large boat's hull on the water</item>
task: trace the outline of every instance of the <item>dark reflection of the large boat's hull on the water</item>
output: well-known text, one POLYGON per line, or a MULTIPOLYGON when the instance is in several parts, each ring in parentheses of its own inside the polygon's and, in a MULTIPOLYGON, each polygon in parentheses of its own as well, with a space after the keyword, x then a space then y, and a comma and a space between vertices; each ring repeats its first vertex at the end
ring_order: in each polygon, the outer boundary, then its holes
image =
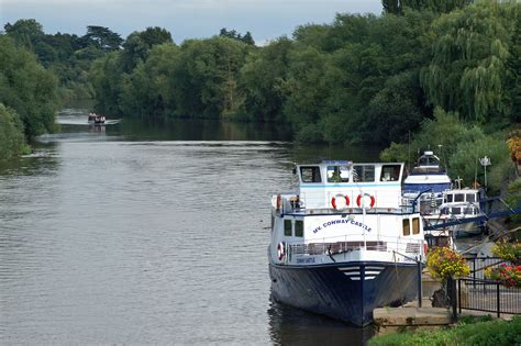
POLYGON ((274 345, 364 345, 375 334, 270 299, 269 334, 274 345))

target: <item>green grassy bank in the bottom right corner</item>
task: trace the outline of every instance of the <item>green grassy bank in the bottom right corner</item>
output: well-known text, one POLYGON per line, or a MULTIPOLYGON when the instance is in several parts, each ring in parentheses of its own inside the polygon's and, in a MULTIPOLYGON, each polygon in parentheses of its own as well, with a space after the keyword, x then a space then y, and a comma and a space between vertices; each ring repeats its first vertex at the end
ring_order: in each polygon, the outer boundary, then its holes
POLYGON ((463 319, 455 327, 436 332, 376 336, 369 345, 521 345, 521 316, 511 321, 490 319, 463 319))

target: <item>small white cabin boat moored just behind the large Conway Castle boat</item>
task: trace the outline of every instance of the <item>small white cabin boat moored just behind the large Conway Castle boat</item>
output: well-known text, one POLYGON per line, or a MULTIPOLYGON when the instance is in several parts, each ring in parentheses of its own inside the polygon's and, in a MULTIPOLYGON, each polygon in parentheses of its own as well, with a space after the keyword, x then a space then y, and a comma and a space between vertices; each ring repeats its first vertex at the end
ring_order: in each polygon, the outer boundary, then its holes
POLYGON ((486 215, 480 200, 485 198, 483 189, 459 188, 443 192, 440 219, 458 222, 452 226, 455 238, 479 235, 486 227, 486 215))

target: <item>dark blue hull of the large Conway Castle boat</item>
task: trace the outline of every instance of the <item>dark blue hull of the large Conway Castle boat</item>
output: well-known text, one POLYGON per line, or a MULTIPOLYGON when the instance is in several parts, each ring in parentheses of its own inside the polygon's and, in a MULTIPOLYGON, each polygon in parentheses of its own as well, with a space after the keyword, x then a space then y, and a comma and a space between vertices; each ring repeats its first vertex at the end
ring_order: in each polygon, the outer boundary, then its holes
POLYGON ((269 276, 275 300, 357 326, 373 322, 374 309, 399 305, 418 293, 415 264, 270 264, 269 276))

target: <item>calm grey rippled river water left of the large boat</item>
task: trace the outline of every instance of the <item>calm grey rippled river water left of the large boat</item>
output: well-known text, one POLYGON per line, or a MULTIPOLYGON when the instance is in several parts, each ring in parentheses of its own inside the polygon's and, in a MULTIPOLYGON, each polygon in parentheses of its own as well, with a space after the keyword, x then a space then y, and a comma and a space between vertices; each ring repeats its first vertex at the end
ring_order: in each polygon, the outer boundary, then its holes
POLYGON ((376 160, 208 121, 86 124, 0 166, 0 344, 363 344, 270 300, 269 200, 292 163, 376 160))

